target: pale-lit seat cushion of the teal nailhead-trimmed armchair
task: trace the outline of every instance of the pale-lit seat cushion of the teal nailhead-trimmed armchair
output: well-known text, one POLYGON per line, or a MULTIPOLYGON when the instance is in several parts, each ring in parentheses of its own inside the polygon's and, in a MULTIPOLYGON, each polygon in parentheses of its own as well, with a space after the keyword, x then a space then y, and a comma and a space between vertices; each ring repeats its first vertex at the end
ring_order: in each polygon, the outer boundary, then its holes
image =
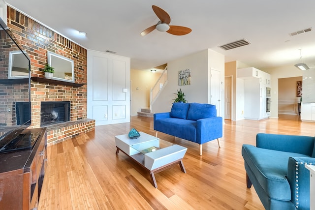
POLYGON ((242 155, 266 194, 270 198, 282 201, 291 200, 291 189, 287 180, 289 157, 309 157, 304 154, 267 150, 252 145, 243 145, 242 155))

